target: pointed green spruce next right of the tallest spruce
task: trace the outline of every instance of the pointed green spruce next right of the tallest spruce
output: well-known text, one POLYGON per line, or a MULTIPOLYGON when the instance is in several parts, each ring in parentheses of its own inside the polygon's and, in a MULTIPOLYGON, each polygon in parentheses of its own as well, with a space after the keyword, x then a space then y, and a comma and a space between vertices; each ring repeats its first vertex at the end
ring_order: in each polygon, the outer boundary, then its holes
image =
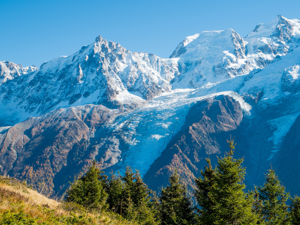
POLYGON ((274 170, 268 170, 265 179, 264 186, 258 188, 259 198, 263 201, 262 218, 266 224, 288 224, 288 206, 285 202, 289 199, 289 193, 285 192, 274 170))

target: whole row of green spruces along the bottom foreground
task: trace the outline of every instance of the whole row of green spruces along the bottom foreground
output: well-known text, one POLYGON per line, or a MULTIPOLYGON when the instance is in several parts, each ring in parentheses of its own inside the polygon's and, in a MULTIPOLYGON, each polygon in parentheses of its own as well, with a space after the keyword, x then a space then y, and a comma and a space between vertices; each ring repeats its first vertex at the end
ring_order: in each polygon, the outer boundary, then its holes
POLYGON ((205 159, 207 165, 195 179, 196 204, 176 170, 169 185, 157 195, 138 170, 127 167, 123 176, 117 172, 108 178, 96 168, 95 161, 70 185, 65 201, 113 211, 142 225, 300 224, 300 198, 291 198, 272 168, 265 174, 263 186, 245 191, 244 158, 233 158, 236 143, 231 138, 227 143, 230 150, 218 158, 215 168, 205 159), (286 204, 288 199, 290 205, 286 204))

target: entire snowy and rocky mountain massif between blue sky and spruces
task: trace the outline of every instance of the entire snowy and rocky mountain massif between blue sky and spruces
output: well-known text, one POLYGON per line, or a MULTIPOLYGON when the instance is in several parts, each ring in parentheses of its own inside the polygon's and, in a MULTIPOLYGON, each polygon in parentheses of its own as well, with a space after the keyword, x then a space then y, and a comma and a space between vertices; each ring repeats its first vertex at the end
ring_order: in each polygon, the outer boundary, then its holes
MULTIPOLYGON (((254 26, 253 26, 254 27, 254 26)), ((178 169, 191 191, 210 157, 245 157, 245 184, 272 167, 300 188, 300 21, 278 15, 245 38, 188 36, 169 59, 98 36, 35 66, 0 62, 0 173, 63 193, 96 159, 140 170, 149 188, 178 169), (270 165, 271 163, 271 165, 270 165)))

